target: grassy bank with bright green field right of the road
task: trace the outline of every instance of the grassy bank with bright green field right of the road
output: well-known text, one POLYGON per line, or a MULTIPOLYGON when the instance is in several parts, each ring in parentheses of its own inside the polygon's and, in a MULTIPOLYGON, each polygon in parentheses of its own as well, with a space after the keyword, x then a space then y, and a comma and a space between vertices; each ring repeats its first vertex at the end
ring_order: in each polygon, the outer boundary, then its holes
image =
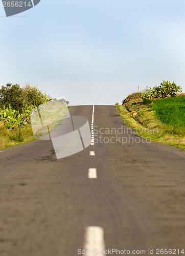
MULTIPOLYGON (((184 96, 182 97, 185 98, 184 96)), ((123 101, 123 105, 117 105, 117 109, 121 113, 126 125, 136 130, 139 136, 151 138, 152 141, 178 146, 185 150, 185 130, 183 121, 178 122, 178 118, 183 120, 185 113, 182 97, 160 99, 159 101, 163 103, 156 103, 158 100, 144 102, 141 93, 134 93, 123 101), (176 104, 176 102, 173 101, 174 99, 178 101, 179 104, 176 104), (168 103, 165 100, 167 100, 168 103), (169 103, 169 100, 172 100, 173 104, 169 103), (159 111, 160 108, 158 104, 167 104, 164 113, 159 111), (178 108, 180 109, 179 115, 177 115, 177 113, 179 113, 178 108), (158 111, 160 115, 157 114, 158 111), (166 118, 167 116, 168 118, 166 118), (168 120, 168 122, 165 122, 164 118, 168 120), (172 119, 173 121, 171 121, 172 119)), ((163 107, 161 107, 161 109, 163 109, 163 107)))

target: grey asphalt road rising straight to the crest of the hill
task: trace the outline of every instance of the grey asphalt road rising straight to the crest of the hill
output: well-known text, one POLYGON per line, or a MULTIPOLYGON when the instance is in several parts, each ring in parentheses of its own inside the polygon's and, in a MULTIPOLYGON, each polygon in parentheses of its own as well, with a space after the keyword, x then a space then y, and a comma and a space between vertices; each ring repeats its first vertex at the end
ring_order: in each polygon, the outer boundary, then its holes
MULTIPOLYGON (((70 113, 91 124, 92 105, 70 113)), ((95 105, 94 134, 97 143, 58 160, 51 140, 0 152, 1 256, 75 256, 90 243, 185 252, 185 152, 134 135, 110 105, 95 105)))

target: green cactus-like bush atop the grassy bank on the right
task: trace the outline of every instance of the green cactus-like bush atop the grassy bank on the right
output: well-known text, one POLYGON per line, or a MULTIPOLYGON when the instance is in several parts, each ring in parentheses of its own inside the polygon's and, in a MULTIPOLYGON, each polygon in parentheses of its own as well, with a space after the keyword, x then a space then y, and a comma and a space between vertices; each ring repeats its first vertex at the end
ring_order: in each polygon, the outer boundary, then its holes
POLYGON ((163 82, 160 83, 160 86, 147 89, 146 93, 142 93, 142 98, 144 100, 151 100, 152 98, 165 98, 165 97, 174 97, 177 92, 182 92, 180 86, 176 86, 175 82, 163 82))

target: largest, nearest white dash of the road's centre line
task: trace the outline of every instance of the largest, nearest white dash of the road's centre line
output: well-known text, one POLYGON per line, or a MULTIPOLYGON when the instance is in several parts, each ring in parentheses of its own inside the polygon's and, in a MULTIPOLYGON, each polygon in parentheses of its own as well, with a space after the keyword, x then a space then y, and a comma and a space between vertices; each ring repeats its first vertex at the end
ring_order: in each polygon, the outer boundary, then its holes
MULTIPOLYGON (((94 251, 95 249, 105 251, 104 230, 102 227, 89 226, 86 228, 83 249, 85 251, 94 251)), ((101 253, 101 255, 105 254, 101 253)))

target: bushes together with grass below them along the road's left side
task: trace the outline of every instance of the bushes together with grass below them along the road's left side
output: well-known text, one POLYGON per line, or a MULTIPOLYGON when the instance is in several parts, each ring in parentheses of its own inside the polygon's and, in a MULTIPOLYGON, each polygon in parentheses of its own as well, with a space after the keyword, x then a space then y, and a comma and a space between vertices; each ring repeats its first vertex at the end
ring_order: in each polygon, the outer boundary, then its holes
POLYGON ((0 149, 35 140, 30 113, 50 100, 68 104, 65 99, 52 99, 36 87, 7 83, 0 89, 0 149))

